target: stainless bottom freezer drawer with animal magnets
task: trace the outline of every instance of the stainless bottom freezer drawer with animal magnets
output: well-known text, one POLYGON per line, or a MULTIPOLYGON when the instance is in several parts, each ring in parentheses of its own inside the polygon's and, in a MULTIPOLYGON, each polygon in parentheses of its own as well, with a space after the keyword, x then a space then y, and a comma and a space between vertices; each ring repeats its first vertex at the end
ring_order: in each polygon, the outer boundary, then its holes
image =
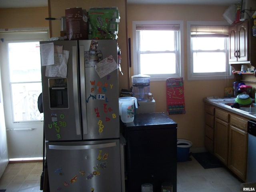
POLYGON ((47 142, 51 192, 121 192, 119 140, 47 142))

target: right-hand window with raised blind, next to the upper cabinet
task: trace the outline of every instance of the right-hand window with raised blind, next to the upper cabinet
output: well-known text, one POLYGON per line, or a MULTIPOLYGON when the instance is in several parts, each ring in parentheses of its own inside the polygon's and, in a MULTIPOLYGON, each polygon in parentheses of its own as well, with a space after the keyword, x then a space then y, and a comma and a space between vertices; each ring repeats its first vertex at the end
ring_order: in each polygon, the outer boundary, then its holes
POLYGON ((187 22, 188 80, 232 76, 226 22, 187 22))

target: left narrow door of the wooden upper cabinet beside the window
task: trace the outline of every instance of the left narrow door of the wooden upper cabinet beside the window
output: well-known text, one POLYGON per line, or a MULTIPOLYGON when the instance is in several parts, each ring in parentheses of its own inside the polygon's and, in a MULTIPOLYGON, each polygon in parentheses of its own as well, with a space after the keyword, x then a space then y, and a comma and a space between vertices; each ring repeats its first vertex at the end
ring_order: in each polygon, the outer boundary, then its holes
POLYGON ((236 34, 236 26, 231 27, 229 31, 229 61, 236 62, 237 61, 237 34, 236 34))

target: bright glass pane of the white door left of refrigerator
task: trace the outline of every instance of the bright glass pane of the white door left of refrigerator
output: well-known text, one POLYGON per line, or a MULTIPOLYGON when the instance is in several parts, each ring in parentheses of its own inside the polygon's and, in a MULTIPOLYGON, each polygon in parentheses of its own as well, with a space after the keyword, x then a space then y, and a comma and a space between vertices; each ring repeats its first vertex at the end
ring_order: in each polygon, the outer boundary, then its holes
POLYGON ((43 120, 37 104, 42 92, 39 42, 8 43, 8 60, 13 121, 43 120))

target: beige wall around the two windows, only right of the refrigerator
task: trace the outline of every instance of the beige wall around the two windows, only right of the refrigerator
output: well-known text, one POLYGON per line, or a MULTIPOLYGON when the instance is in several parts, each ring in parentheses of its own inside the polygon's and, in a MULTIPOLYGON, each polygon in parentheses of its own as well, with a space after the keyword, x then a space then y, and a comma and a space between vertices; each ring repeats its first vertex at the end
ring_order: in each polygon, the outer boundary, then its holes
MULTIPOLYGON (((132 5, 127 6, 128 37, 132 42, 133 20, 183 20, 184 22, 184 95, 186 114, 171 115, 178 123, 178 138, 193 142, 192 148, 204 147, 204 103, 206 96, 224 96, 224 88, 232 86, 234 79, 187 80, 187 21, 225 21, 226 6, 132 5)), ((164 43, 164 38, 159 38, 164 43)), ((210 59, 210 58, 209 58, 210 59)), ((207 61, 206 61, 207 62, 207 61)), ((133 65, 133 63, 132 63, 133 65)), ((133 69, 130 70, 133 75, 133 69)), ((156 111, 166 112, 166 82, 150 82, 150 92, 156 100, 156 111)))

